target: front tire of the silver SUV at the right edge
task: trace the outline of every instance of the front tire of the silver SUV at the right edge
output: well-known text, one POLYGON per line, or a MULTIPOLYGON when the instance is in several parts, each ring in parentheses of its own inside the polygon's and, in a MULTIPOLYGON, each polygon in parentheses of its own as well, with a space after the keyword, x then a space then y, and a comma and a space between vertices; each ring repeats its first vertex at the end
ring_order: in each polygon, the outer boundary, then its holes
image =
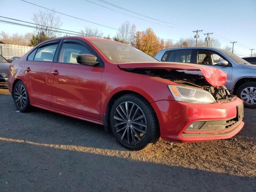
POLYGON ((244 107, 252 108, 252 109, 256 108, 256 92, 253 94, 255 90, 256 90, 256 82, 247 82, 238 87, 236 91, 236 95, 244 101, 244 107), (246 89, 248 89, 247 91, 249 91, 250 88, 252 88, 252 94, 250 94, 249 92, 248 98, 246 99, 244 98, 247 94, 246 89), (253 104, 253 102, 255 104, 253 104))

